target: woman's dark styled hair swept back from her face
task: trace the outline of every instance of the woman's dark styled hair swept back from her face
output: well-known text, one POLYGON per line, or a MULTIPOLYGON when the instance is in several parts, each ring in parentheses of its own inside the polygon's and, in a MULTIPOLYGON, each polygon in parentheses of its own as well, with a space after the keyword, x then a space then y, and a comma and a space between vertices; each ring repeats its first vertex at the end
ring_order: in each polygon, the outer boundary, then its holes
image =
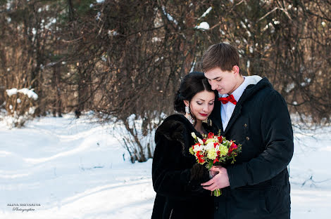
MULTIPOLYGON (((208 79, 204 77, 204 73, 191 72, 187 74, 184 79, 182 79, 180 88, 175 95, 175 100, 173 102, 175 110, 177 112, 185 112, 184 100, 191 102, 194 95, 201 91, 211 91, 215 94, 217 92, 211 89, 211 85, 208 83, 208 79)), ((194 115, 192 115, 192 117, 194 118, 194 115)))

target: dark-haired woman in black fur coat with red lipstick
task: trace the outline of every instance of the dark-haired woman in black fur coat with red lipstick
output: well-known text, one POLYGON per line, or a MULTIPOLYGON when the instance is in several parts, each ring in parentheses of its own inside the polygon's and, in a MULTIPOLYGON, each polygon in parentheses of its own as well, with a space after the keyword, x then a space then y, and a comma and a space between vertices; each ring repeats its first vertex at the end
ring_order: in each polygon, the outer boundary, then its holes
POLYGON ((213 110, 216 93, 202 72, 192 72, 182 80, 175 95, 177 112, 166 118, 155 134, 152 179, 156 192, 151 218, 212 218, 211 192, 200 183, 209 180, 208 169, 189 154, 194 145, 191 133, 217 132, 202 121, 213 110))

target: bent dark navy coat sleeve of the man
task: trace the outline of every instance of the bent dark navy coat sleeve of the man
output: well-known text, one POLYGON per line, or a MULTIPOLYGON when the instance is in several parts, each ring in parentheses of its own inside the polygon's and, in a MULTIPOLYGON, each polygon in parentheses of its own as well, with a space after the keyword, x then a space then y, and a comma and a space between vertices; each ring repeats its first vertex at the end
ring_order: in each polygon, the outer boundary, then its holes
POLYGON ((256 185, 284 171, 293 156, 293 131, 287 104, 277 91, 263 102, 261 112, 263 152, 242 164, 227 167, 230 187, 256 185))

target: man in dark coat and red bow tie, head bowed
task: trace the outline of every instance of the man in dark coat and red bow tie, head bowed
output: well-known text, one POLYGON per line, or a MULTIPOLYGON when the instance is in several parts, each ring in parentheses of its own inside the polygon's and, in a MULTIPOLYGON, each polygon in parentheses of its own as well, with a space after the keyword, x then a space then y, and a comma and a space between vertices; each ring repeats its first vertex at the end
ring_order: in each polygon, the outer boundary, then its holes
POLYGON ((235 164, 214 166, 214 177, 201 184, 222 189, 214 199, 214 218, 289 218, 293 131, 284 98, 268 79, 243 77, 230 44, 209 47, 202 67, 220 95, 210 118, 227 140, 242 144, 235 164))

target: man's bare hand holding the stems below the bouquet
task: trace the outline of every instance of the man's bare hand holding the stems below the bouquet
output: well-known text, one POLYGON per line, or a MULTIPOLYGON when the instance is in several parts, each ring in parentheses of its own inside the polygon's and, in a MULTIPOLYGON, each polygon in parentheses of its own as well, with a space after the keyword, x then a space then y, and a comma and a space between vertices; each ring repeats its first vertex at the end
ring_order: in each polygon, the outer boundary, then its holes
POLYGON ((217 190, 223 189, 224 187, 230 186, 229 177, 227 176, 226 168, 222 166, 213 166, 212 172, 218 172, 211 180, 206 183, 201 183, 205 190, 217 190))

